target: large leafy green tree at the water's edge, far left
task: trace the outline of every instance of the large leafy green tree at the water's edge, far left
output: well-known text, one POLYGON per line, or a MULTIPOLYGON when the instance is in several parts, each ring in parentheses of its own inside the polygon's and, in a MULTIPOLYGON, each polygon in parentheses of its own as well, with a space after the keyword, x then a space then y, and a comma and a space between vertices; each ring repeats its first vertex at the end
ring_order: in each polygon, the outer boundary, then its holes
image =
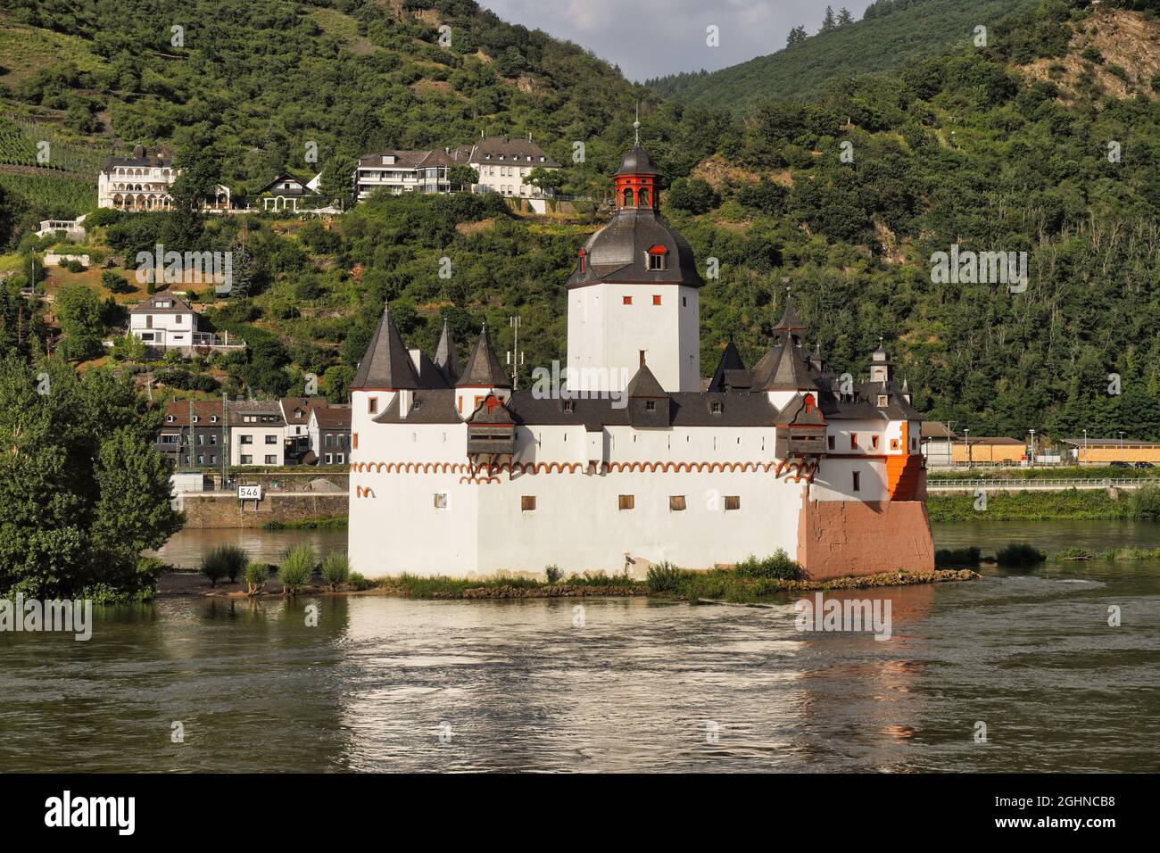
POLYGON ((160 414, 129 376, 0 360, 0 591, 147 594, 142 559, 181 526, 160 414))

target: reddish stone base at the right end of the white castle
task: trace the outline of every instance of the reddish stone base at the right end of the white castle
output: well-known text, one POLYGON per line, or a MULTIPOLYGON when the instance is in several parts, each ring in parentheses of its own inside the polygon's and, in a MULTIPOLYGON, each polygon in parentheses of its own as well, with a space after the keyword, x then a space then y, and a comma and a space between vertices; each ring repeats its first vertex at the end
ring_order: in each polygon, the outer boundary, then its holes
POLYGON ((812 580, 930 572, 935 544, 921 500, 810 500, 798 520, 798 563, 812 580))

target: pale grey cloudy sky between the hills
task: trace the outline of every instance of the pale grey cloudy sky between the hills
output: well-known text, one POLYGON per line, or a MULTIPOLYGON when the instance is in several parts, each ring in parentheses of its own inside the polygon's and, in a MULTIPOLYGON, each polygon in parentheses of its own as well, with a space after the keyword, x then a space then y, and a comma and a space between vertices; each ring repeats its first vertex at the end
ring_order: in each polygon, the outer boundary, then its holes
POLYGON ((811 35, 826 6, 861 20, 870 0, 479 0, 509 23, 542 29, 621 66, 630 80, 717 71, 785 46, 793 27, 811 35), (705 44, 705 28, 720 46, 705 44))

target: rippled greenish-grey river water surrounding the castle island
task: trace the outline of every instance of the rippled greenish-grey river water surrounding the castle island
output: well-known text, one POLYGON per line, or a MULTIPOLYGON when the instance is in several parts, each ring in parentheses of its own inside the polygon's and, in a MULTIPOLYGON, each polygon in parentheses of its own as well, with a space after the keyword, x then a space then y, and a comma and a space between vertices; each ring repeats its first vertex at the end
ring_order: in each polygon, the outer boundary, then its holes
MULTIPOLYGON (((167 554, 223 533, 270 558, 343 536, 187 532, 167 554)), ((1157 547, 1160 526, 980 522, 935 538, 1157 547)), ((1160 564, 853 595, 890 600, 889 641, 799 632, 789 598, 102 608, 88 642, 0 634, 0 771, 1160 769, 1160 564)))

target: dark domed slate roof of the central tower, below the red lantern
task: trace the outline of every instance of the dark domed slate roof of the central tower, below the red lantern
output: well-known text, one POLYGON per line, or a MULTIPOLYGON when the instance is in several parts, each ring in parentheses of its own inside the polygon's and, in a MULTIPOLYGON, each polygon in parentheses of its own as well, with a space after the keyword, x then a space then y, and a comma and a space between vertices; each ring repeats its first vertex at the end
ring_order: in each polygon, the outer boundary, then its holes
POLYGON ((623 208, 585 244, 585 269, 568 277, 575 288, 601 281, 641 284, 704 287, 693 247, 679 231, 648 208, 623 208), (648 269, 646 255, 653 246, 668 250, 665 269, 648 269))

